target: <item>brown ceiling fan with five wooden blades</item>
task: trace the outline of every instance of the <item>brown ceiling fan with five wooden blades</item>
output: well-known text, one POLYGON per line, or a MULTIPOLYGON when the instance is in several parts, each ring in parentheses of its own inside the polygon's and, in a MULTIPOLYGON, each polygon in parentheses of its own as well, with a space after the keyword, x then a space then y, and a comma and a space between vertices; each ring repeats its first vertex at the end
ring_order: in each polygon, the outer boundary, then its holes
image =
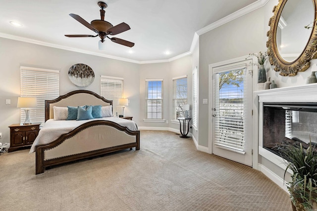
POLYGON ((113 26, 111 23, 105 21, 105 10, 104 8, 107 7, 107 4, 103 1, 99 1, 98 2, 99 7, 101 8, 100 10, 100 16, 101 16, 101 20, 93 20, 92 22, 88 23, 87 21, 85 21, 82 17, 80 17, 79 15, 76 14, 69 14, 71 17, 73 17, 75 20, 77 20, 79 23, 83 24, 84 26, 86 26, 88 29, 94 31, 97 33, 97 35, 65 35, 66 37, 69 38, 86 38, 86 37, 91 37, 91 38, 95 38, 97 36, 100 37, 102 43, 105 42, 105 39, 108 38, 110 39, 112 42, 118 43, 118 44, 122 44, 128 47, 133 47, 134 43, 133 42, 129 42, 129 41, 125 41, 119 38, 109 38, 108 35, 117 35, 120 34, 122 32, 125 32, 127 30, 130 29, 130 26, 124 22, 113 26))

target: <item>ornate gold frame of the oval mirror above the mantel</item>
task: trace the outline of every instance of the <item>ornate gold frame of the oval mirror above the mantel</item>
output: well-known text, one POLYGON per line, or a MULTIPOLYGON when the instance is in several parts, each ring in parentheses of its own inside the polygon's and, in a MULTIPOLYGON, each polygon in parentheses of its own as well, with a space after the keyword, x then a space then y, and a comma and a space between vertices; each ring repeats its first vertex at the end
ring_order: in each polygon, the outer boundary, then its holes
MULTIPOLYGON (((317 12, 317 0, 312 0, 314 4, 314 23, 311 36, 297 59, 288 62, 285 61, 278 52, 276 46, 276 30, 278 26, 278 20, 281 16, 287 0, 279 0, 278 5, 273 7, 274 15, 269 19, 268 25, 270 30, 266 33, 268 41, 266 42, 267 55, 269 56, 269 62, 271 65, 275 65, 274 70, 276 72, 281 71, 281 76, 296 76, 298 72, 304 72, 310 67, 310 60, 317 58, 317 26, 316 26, 316 12, 317 12)), ((305 11, 303 11, 305 12, 305 11)), ((303 26, 304 27, 304 26, 303 26)))

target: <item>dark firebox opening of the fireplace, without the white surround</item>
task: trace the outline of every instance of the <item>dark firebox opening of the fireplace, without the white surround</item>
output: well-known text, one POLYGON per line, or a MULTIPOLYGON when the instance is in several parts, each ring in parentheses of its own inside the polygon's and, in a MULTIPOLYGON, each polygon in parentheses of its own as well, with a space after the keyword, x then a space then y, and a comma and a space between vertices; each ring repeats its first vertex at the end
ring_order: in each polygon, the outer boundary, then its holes
POLYGON ((317 103, 263 103, 263 148, 277 154, 277 144, 317 140, 317 103))

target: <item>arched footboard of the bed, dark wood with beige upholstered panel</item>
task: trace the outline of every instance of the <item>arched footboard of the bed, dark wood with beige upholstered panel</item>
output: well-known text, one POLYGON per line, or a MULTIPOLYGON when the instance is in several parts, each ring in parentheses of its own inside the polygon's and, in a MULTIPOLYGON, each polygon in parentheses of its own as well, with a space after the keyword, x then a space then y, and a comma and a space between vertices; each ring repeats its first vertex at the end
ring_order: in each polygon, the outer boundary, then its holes
POLYGON ((140 149, 140 131, 114 122, 96 120, 76 127, 49 144, 36 146, 36 174, 46 167, 135 147, 140 149))

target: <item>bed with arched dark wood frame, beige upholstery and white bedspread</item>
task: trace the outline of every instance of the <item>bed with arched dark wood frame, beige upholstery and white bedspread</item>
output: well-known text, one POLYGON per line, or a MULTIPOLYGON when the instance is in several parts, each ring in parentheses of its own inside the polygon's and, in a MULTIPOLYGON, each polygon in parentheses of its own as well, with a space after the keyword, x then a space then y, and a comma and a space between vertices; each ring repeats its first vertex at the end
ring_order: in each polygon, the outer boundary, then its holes
POLYGON ((57 108, 60 111, 67 110, 67 106, 87 108, 88 105, 97 108, 102 106, 107 110, 111 107, 112 114, 112 101, 88 90, 72 91, 54 100, 45 101, 46 122, 30 150, 30 153, 36 153, 36 174, 43 173, 46 167, 54 165, 123 149, 140 149, 140 131, 131 120, 104 117, 104 114, 98 119, 64 120, 56 112, 57 108))

